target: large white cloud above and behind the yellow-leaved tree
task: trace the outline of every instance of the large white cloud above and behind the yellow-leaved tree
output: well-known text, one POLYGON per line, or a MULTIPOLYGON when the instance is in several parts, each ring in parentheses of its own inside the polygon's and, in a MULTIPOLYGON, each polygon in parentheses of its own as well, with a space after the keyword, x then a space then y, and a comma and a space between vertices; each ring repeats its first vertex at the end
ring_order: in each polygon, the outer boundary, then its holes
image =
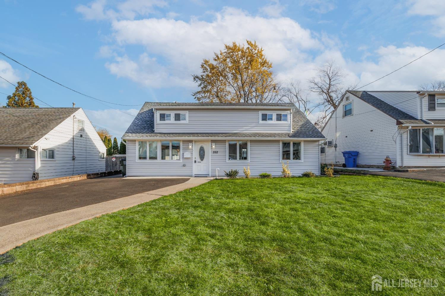
POLYGON ((146 54, 137 61, 120 56, 107 63, 107 67, 119 76, 149 87, 172 83, 186 86, 193 85, 191 75, 200 71, 202 59, 211 58, 225 43, 256 40, 274 64, 274 70, 298 64, 308 58, 305 52, 323 48, 310 30, 287 17, 251 16, 235 8, 224 8, 213 16, 211 21, 165 18, 113 21, 117 44, 142 45, 146 54), (156 57, 162 58, 162 66, 156 57))

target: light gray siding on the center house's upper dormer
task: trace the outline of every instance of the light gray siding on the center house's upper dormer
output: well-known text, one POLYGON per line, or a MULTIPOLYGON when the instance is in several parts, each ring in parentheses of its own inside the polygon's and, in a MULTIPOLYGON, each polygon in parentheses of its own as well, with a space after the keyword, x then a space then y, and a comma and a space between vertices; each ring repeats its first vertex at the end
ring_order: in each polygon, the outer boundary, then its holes
MULTIPOLYGON (((159 112, 172 112, 157 109, 159 112)), ((183 110, 185 111, 185 110, 183 110)), ((265 110, 264 113, 286 113, 283 110, 265 110)), ((288 122, 259 123, 259 110, 206 109, 188 110, 188 123, 162 123, 155 118, 155 132, 290 132, 288 122)))

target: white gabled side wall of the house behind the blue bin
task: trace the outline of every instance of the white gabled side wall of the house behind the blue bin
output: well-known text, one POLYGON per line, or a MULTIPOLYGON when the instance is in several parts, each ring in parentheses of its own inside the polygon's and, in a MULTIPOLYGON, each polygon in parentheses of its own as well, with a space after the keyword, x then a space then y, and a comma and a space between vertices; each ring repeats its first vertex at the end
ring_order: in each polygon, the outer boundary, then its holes
POLYGON ((357 164, 383 165, 387 155, 396 162, 396 120, 352 94, 349 97, 352 116, 343 117, 346 102, 342 101, 322 131, 337 148, 325 146, 321 163, 343 164, 346 150, 359 151, 357 164))

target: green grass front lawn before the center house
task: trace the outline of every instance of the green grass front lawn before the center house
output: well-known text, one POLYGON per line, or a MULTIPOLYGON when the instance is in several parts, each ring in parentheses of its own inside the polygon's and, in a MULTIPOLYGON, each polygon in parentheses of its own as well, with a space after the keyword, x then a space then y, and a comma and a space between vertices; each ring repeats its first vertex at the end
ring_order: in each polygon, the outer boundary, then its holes
POLYGON ((213 180, 30 241, 3 256, 0 283, 8 295, 357 295, 379 274, 439 284, 380 295, 443 295, 444 193, 381 176, 213 180))

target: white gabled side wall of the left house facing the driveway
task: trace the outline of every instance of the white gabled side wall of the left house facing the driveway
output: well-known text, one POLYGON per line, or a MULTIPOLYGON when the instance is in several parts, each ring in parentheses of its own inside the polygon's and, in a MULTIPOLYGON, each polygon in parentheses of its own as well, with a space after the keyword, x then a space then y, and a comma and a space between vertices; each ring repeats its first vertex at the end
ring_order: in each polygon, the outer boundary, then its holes
POLYGON ((39 178, 49 179, 93 172, 105 172, 105 160, 99 160, 99 153, 106 152, 105 145, 82 109, 73 114, 85 122, 85 132, 77 132, 74 121, 73 160, 73 116, 70 116, 44 136, 38 143, 39 151, 44 148, 56 150, 56 160, 40 159, 39 178))

